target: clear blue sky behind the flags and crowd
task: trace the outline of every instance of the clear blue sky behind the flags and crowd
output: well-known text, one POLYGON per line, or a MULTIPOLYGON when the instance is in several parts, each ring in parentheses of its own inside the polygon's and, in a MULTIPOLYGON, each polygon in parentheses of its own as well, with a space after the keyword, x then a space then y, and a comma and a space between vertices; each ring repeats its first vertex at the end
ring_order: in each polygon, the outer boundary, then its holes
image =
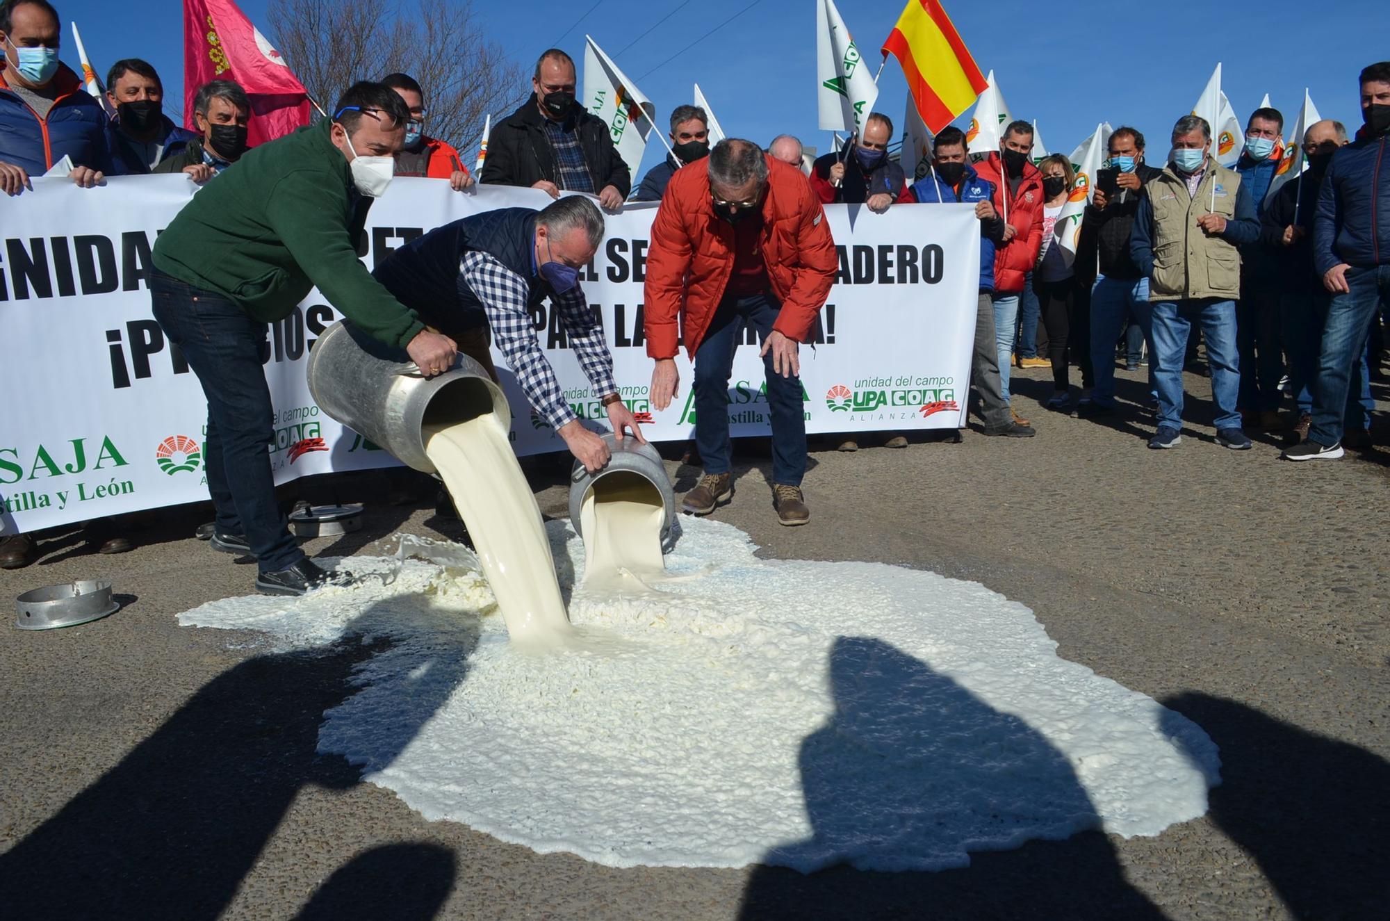
MULTIPOLYGON (((815 0, 759 0, 682 50, 749 3, 480 0, 475 15, 491 38, 527 67, 555 42, 582 61, 588 32, 656 103, 657 124, 664 124, 674 106, 689 102, 691 83, 699 82, 728 134, 766 143, 785 131, 824 152, 828 134, 816 122, 815 0), (637 43, 623 50, 634 39, 637 43)), ((874 64, 902 4, 838 3, 865 57, 874 64)), ((1190 110, 1218 60, 1223 64, 1223 89, 1243 120, 1268 92, 1291 124, 1308 86, 1323 117, 1355 127, 1361 124, 1357 74, 1362 65, 1390 57, 1384 0, 1148 7, 1094 0, 945 4, 980 70, 994 68, 1012 114, 1037 118, 1047 146, 1062 152, 1070 152, 1104 120, 1137 127, 1150 138, 1150 159, 1161 160, 1169 128, 1190 110), (1333 10, 1336 15, 1326 15, 1333 10)), ((181 99, 179 0, 143 0, 125 7, 57 0, 57 6, 64 21, 78 22, 99 72, 104 74, 118 57, 145 57, 158 68, 167 92, 181 99)), ((275 42, 267 31, 267 0, 242 0, 240 6, 275 42)), ((76 51, 64 29, 63 58, 75 64, 76 51)), ((364 36, 364 42, 370 40, 364 36)), ((901 122, 906 83, 892 58, 883 71, 880 90, 877 107, 894 124, 901 122)), ((969 122, 969 114, 963 120, 969 122)), ((657 147, 652 139, 644 171, 659 161, 657 147)))

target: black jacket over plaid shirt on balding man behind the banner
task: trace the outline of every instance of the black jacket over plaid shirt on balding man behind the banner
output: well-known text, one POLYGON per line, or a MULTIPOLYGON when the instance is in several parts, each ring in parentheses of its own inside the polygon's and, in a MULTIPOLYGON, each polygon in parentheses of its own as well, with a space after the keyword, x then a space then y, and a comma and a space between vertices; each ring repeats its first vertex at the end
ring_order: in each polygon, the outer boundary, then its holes
MULTIPOLYGON (((594 179, 594 193, 612 185, 626 199, 632 191, 632 173, 613 146, 607 125, 575 104, 571 118, 578 121, 580 149, 594 179)), ((555 182, 555 150, 545 136, 545 115, 537 109, 535 93, 520 109, 503 118, 488 136, 488 159, 478 182, 486 185, 535 185, 555 182)))

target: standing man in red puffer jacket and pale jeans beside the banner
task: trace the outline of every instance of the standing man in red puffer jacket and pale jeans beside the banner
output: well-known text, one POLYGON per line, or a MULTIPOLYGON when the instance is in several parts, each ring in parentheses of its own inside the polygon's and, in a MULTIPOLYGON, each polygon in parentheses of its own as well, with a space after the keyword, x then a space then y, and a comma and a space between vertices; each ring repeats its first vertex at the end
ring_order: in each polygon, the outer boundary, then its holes
MULTIPOLYGON (((1033 271, 1042 246, 1042 174, 1033 166, 1033 125, 1009 122, 999 153, 974 164, 981 179, 994 185, 994 210, 1004 217, 1004 242, 994 255, 994 334, 999 349, 999 383, 1009 399, 1009 366, 1019 323, 1019 295, 1023 277, 1033 271)), ((1027 420, 1013 413, 1013 420, 1027 420)))

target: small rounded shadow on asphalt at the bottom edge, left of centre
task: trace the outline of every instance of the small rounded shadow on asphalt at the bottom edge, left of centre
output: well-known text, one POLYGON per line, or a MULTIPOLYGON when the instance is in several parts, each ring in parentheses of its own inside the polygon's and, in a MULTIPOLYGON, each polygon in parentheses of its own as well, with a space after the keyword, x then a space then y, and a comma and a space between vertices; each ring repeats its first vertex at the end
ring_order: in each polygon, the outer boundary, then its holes
POLYGON ((438 844, 384 844, 334 872, 295 921, 430 921, 456 875, 453 851, 438 844))

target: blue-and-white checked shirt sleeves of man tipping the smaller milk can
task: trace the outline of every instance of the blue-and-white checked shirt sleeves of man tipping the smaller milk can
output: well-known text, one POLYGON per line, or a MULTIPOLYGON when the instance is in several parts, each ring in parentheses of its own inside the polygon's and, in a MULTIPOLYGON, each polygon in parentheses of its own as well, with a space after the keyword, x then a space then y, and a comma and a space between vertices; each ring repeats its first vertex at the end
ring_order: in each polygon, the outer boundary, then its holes
MULTIPOLYGON (((507 366, 516 373, 521 392, 525 394, 531 408, 556 430, 578 419, 564 399, 564 391, 555 378, 550 362, 541 351, 535 327, 531 324, 531 313, 527 310, 530 287, 525 278, 488 253, 477 250, 464 255, 459 269, 464 282, 482 302, 492 337, 506 356, 507 366)), ((589 312, 584 289, 574 285, 564 294, 550 295, 550 303, 560 312, 570 346, 594 385, 594 394, 602 397, 616 394, 613 355, 603 342, 602 327, 589 312)))

